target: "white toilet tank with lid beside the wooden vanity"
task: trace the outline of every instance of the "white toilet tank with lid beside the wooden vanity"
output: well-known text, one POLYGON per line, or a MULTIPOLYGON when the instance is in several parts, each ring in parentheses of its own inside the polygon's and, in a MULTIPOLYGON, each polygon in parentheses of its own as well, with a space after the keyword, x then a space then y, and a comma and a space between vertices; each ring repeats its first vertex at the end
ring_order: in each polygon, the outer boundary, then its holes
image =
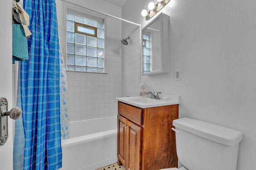
POLYGON ((188 170, 236 170, 240 131, 186 117, 172 124, 178 159, 188 170))

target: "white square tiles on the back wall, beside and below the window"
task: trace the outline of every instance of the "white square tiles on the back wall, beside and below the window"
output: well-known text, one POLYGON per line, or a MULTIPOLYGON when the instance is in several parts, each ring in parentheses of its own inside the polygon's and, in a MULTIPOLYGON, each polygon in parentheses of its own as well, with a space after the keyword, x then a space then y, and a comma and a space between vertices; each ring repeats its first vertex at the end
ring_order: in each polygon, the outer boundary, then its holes
POLYGON ((69 121, 116 115, 116 97, 121 96, 120 39, 105 39, 104 60, 106 74, 67 71, 69 121))

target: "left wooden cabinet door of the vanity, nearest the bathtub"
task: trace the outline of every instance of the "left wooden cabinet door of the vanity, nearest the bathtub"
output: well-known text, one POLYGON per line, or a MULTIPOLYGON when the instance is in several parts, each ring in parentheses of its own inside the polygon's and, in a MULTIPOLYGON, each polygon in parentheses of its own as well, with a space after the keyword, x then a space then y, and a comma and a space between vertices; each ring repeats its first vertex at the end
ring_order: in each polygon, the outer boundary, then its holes
POLYGON ((117 115, 117 157, 118 165, 126 166, 126 121, 121 115, 117 115))

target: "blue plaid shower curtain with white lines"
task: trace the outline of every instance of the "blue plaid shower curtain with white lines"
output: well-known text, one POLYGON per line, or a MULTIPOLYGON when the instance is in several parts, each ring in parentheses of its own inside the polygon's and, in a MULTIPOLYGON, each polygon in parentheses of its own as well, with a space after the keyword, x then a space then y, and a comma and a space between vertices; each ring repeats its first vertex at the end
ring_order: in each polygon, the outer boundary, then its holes
POLYGON ((60 59, 55 0, 24 0, 30 16, 29 60, 21 62, 23 170, 62 167, 60 59))

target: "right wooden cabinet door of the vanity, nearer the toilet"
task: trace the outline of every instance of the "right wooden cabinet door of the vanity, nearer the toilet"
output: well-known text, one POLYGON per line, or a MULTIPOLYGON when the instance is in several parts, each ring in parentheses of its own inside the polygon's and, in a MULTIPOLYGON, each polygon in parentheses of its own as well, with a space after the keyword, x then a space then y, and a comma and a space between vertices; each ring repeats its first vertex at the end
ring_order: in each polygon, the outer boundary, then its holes
POLYGON ((126 169, 141 170, 142 128, 127 120, 126 169))

